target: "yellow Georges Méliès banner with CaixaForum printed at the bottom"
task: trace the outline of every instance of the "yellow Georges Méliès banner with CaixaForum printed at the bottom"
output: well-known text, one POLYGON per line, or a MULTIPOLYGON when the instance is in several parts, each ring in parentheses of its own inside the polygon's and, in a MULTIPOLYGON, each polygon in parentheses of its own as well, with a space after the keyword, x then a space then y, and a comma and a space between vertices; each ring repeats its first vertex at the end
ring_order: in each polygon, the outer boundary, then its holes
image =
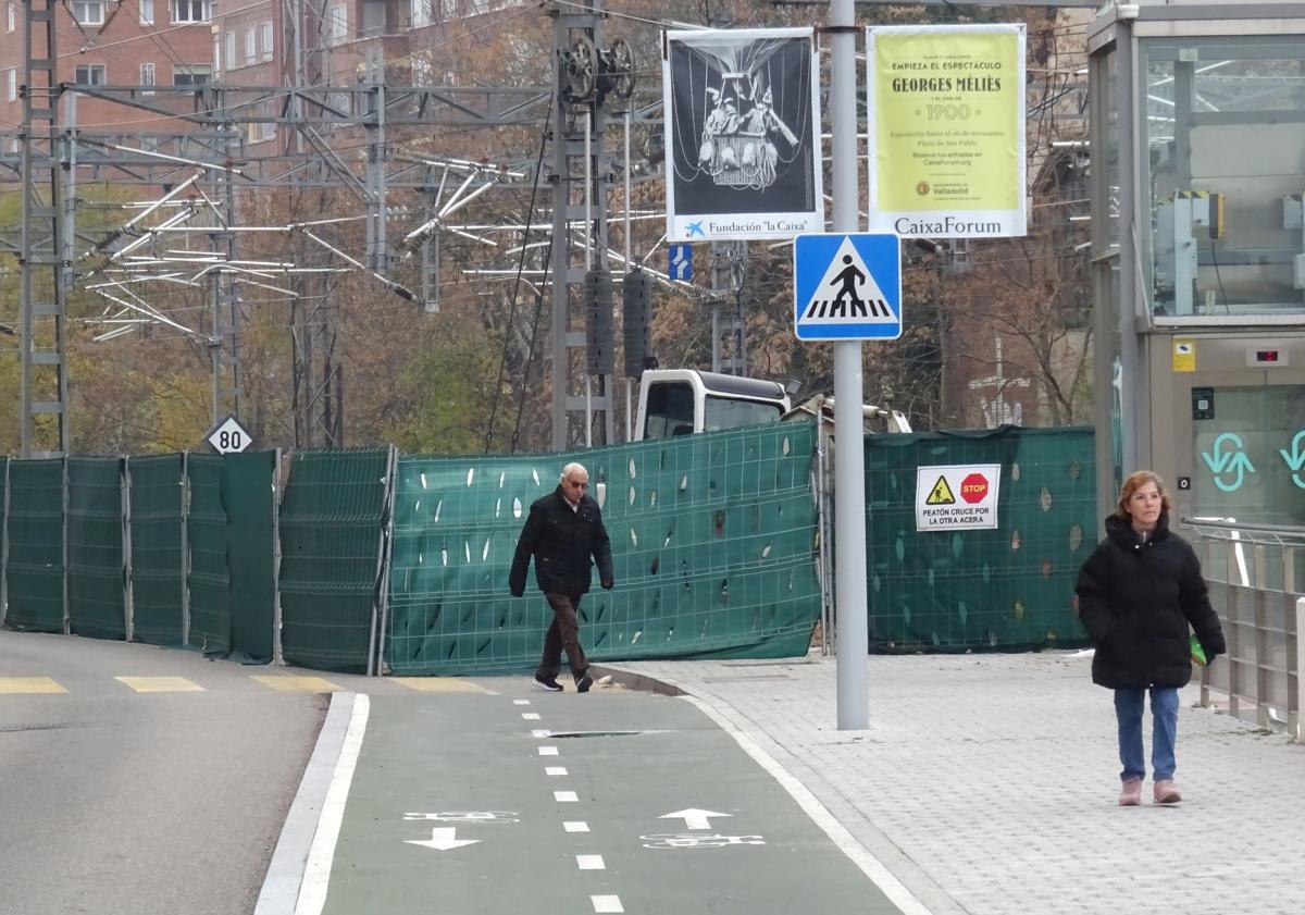
POLYGON ((1024 34, 872 29, 872 210, 900 235, 1024 231, 1024 34), (914 218, 920 214, 920 218, 914 218))

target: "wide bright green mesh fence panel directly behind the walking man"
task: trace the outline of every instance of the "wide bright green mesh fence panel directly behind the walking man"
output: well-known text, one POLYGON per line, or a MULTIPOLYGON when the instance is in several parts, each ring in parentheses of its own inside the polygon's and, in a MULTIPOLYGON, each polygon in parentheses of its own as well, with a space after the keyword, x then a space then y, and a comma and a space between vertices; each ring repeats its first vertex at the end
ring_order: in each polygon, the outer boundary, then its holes
POLYGON ((581 604, 594 660, 805 653, 820 616, 809 475, 814 427, 784 423, 577 454, 399 461, 385 659, 394 674, 539 660, 552 619, 508 569, 530 503, 589 469, 616 589, 581 604))

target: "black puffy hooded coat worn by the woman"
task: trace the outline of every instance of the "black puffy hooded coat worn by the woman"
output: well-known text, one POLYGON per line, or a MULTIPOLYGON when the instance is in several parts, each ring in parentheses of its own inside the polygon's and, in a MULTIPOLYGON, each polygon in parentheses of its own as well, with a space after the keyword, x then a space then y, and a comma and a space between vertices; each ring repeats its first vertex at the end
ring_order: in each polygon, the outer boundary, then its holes
POLYGON ((1191 679, 1188 624, 1206 657, 1224 654, 1201 561, 1169 531, 1168 512, 1143 540, 1128 518, 1105 520, 1105 539, 1074 586, 1078 615, 1096 645, 1092 683, 1109 689, 1184 687, 1191 679))

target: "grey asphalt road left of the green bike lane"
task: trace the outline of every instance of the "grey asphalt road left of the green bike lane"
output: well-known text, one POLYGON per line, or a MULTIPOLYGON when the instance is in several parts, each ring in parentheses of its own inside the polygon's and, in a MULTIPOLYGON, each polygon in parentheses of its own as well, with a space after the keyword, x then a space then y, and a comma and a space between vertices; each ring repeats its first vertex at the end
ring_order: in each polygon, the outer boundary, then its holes
POLYGON ((252 912, 329 701, 282 674, 0 630, 0 911, 252 912))

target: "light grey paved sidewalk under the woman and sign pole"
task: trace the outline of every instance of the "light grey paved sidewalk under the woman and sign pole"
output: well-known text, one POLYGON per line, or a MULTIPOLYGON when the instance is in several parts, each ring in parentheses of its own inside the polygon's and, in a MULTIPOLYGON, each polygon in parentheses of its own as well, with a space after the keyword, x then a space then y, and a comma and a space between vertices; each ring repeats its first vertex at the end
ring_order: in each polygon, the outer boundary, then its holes
MULTIPOLYGON (((869 659, 870 727, 837 730, 837 664, 609 666, 716 709, 934 915, 1300 910, 1305 747, 1180 694, 1186 800, 1120 808, 1111 694, 1075 653, 869 659)), ((1216 662, 1218 663, 1218 662, 1216 662)), ((1150 754, 1150 714, 1147 715, 1150 754)))

